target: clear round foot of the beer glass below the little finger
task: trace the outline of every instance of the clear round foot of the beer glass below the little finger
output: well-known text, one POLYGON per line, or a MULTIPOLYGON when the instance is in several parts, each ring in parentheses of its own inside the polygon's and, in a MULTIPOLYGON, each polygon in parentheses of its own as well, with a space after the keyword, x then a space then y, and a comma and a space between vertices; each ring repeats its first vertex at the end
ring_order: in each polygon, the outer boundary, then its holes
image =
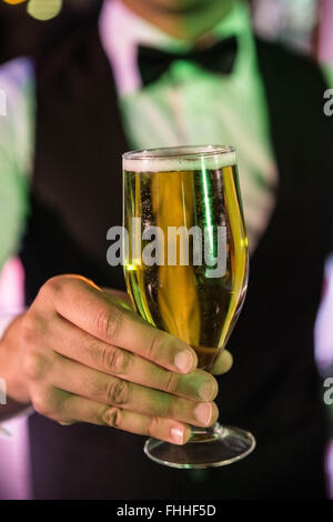
POLYGON ((159 464, 171 468, 218 468, 232 464, 249 455, 255 448, 255 439, 240 428, 193 428, 190 441, 184 445, 148 439, 144 453, 159 464))

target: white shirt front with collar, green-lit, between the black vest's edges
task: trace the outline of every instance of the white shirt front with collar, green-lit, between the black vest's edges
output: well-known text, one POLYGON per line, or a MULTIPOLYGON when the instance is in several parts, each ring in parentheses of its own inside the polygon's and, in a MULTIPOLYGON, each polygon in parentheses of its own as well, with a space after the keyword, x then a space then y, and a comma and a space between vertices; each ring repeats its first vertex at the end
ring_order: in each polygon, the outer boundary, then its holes
POLYGON ((253 251, 274 207, 278 173, 245 2, 236 1, 211 33, 216 39, 238 38, 231 74, 216 76, 179 60, 159 81, 142 89, 137 64, 139 44, 175 53, 191 46, 142 20, 120 0, 105 1, 100 18, 101 41, 114 72, 131 148, 203 143, 235 147, 253 251))

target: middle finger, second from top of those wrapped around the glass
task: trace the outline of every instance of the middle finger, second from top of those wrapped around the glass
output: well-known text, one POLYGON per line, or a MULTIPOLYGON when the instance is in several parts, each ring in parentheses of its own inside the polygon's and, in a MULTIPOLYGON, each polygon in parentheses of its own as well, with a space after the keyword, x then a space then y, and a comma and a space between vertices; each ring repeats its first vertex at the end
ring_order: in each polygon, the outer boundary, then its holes
POLYGON ((53 320, 48 342, 53 351, 65 358, 137 384, 199 401, 213 401, 218 394, 216 380, 203 370, 189 374, 165 370, 127 350, 99 341, 60 317, 53 320))

